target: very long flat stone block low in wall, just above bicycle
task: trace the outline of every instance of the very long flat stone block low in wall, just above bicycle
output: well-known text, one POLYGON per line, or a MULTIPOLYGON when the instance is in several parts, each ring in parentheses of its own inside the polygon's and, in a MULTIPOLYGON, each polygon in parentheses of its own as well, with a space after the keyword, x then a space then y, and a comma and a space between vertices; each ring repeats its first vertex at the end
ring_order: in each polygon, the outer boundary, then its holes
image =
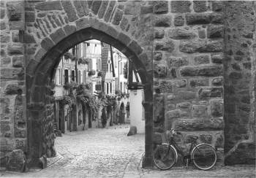
POLYGON ((181 119, 176 120, 176 131, 221 131, 224 128, 222 118, 214 119, 181 119))

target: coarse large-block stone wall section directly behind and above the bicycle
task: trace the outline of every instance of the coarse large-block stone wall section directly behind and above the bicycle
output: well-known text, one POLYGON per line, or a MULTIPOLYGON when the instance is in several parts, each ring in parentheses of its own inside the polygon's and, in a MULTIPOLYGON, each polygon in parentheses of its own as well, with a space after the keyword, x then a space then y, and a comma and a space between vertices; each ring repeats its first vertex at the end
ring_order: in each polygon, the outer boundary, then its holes
POLYGON ((154 142, 175 128, 184 150, 190 136, 199 136, 222 159, 222 2, 156 1, 153 9, 154 142))

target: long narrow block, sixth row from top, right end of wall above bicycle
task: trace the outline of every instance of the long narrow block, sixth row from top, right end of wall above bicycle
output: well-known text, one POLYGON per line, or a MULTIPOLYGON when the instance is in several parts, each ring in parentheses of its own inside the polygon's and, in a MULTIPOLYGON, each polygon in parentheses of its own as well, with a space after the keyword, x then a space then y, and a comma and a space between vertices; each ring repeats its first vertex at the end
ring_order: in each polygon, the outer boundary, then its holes
POLYGON ((181 68, 180 73, 184 77, 217 77, 221 76, 223 71, 220 65, 184 66, 181 68))

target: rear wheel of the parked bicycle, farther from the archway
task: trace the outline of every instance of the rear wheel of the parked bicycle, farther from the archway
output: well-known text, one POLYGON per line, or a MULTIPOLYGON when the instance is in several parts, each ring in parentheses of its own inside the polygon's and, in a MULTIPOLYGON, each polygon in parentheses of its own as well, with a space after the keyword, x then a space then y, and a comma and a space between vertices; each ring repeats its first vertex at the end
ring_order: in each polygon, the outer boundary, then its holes
POLYGON ((211 144, 197 144, 191 154, 191 159, 198 169, 209 170, 217 161, 217 153, 211 144))

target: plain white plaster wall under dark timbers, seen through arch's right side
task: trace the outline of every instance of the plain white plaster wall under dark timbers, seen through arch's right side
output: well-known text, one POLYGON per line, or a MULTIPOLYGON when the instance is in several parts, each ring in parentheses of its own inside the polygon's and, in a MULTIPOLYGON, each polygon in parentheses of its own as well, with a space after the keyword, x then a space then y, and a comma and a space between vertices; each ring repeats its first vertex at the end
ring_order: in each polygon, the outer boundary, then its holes
POLYGON ((137 133, 145 133, 143 90, 129 90, 130 125, 137 127, 137 133))

